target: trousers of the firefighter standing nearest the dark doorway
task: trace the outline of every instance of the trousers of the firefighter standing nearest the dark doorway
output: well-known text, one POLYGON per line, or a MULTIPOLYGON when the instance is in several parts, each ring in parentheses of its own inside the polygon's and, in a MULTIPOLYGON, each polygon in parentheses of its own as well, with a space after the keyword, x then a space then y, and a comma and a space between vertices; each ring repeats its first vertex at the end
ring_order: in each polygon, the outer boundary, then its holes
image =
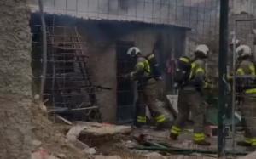
POLYGON ((166 122, 166 117, 159 111, 160 102, 156 86, 155 80, 149 79, 148 82, 138 87, 137 122, 146 122, 146 106, 156 122, 166 122))

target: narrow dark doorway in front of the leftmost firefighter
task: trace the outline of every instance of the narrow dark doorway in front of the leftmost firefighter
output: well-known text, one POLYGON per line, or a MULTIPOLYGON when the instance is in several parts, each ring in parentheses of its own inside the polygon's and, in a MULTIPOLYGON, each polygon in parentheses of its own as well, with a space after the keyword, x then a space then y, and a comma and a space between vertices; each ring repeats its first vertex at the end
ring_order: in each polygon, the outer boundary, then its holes
POLYGON ((118 41, 117 54, 117 122, 131 123, 135 117, 136 84, 124 79, 122 75, 133 70, 134 60, 126 54, 134 42, 118 41))

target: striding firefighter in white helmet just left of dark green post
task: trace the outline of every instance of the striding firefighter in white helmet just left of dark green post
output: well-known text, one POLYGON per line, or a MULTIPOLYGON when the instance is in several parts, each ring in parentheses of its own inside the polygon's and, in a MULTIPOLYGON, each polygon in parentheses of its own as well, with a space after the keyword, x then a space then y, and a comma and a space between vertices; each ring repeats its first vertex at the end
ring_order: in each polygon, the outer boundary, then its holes
MULTIPOLYGON (((211 145, 206 141, 204 133, 204 99, 203 90, 212 88, 206 81, 206 60, 209 48, 201 44, 195 48, 195 59, 192 60, 189 79, 180 88, 178 94, 177 119, 171 128, 170 137, 176 140, 191 111, 194 122, 194 143, 197 145, 211 145)), ((189 62, 189 61, 188 61, 189 62)))

